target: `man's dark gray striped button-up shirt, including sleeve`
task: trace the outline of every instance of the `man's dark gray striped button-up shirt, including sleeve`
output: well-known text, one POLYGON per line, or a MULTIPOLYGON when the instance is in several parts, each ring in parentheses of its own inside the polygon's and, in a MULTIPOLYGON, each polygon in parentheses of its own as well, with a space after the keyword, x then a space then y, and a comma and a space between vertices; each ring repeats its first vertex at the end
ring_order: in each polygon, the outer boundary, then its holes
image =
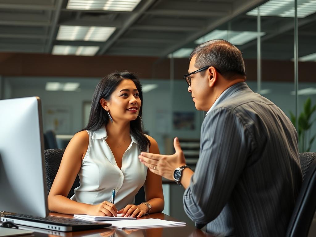
POLYGON ((202 124, 185 212, 216 236, 283 237, 302 182, 296 130, 245 82, 218 100, 202 124))

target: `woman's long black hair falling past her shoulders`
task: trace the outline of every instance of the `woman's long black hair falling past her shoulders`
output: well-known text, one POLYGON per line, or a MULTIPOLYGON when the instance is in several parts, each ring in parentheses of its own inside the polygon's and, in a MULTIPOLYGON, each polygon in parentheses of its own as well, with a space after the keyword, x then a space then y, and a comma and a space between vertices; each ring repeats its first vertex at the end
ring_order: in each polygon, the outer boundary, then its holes
MULTIPOLYGON (((111 99, 111 95, 113 91, 115 91, 119 83, 121 83, 121 81, 125 79, 132 80, 138 90, 139 98, 142 101, 142 105, 139 108, 139 116, 142 117, 143 91, 142 91, 142 85, 139 82, 137 75, 133 72, 128 72, 128 71, 120 71, 120 72, 116 71, 104 77, 95 88, 95 91, 92 97, 89 122, 88 122, 88 125, 81 131, 84 131, 84 130, 97 131, 102 127, 102 125, 106 125, 109 122, 108 113, 106 112, 105 109, 102 108, 100 104, 100 100, 103 98, 109 101, 111 99)), ((147 145, 150 146, 150 141, 144 135, 143 123, 139 116, 137 116, 137 119, 131 121, 130 132, 139 145, 139 151, 146 151, 147 145)))

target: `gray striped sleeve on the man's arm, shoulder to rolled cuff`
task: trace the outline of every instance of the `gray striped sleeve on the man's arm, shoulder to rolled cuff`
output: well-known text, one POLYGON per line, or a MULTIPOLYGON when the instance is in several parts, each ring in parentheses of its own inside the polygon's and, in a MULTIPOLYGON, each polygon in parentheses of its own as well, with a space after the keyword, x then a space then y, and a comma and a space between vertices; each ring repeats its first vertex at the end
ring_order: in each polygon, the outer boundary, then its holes
POLYGON ((204 119, 200 155, 183 196, 184 210, 197 223, 222 211, 254 148, 252 134, 238 113, 215 108, 204 119))

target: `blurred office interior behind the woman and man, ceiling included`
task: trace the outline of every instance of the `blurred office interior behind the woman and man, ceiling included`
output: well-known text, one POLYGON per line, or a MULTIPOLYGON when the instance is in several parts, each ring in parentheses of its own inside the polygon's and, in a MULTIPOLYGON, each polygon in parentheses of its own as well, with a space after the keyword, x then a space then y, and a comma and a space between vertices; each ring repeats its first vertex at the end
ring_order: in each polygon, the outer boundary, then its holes
MULTIPOLYGON (((183 74, 212 39, 243 52, 250 88, 292 119, 300 152, 315 152, 316 0, 0 0, 0 99, 39 96, 46 148, 64 148, 100 79, 137 72, 145 131, 165 154, 178 136, 194 168, 205 113, 183 74)), ((188 221, 182 193, 164 182, 164 212, 188 221)))

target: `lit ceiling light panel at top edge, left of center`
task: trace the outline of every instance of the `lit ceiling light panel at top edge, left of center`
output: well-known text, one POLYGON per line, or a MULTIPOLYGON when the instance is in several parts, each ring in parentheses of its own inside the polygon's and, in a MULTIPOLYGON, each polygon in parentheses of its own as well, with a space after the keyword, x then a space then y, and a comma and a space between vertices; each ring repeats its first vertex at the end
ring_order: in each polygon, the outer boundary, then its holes
POLYGON ((133 11, 141 0, 69 0, 67 9, 133 11))

